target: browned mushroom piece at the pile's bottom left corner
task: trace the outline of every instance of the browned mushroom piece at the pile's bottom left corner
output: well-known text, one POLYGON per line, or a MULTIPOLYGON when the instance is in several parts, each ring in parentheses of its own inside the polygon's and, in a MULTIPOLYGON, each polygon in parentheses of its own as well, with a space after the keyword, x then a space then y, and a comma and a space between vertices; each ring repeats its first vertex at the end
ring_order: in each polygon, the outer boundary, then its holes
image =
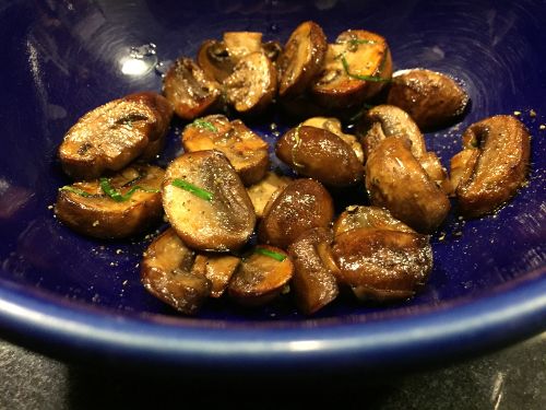
POLYGON ((195 314, 211 293, 211 282, 193 269, 194 258, 195 253, 168 229, 144 251, 142 284, 177 311, 195 314))

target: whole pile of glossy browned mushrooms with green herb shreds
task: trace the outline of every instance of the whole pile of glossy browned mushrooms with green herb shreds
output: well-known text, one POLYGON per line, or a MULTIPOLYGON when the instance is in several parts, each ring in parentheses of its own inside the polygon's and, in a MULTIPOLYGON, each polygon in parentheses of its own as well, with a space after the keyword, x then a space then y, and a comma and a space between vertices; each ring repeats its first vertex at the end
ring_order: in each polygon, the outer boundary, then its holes
POLYGON ((74 183, 59 189, 55 212, 102 239, 168 221, 144 251, 141 281, 187 315, 210 297, 258 306, 290 294, 305 314, 342 293, 404 301, 427 282, 429 235, 450 198, 462 215, 482 216, 525 181, 530 136, 513 116, 470 126, 450 175, 427 150, 422 131, 454 124, 467 103, 446 74, 393 74, 376 33, 349 30, 328 44, 317 23, 304 22, 282 46, 228 32, 205 40, 195 60, 177 59, 163 95, 131 94, 78 120, 59 148, 74 183), (271 169, 268 143, 233 119, 275 102, 306 116, 274 147, 296 178, 271 169), (358 113, 354 133, 341 112, 358 113), (183 153, 162 169, 150 162, 175 114, 187 121, 183 153), (369 203, 336 215, 331 192, 347 188, 366 190, 369 203))

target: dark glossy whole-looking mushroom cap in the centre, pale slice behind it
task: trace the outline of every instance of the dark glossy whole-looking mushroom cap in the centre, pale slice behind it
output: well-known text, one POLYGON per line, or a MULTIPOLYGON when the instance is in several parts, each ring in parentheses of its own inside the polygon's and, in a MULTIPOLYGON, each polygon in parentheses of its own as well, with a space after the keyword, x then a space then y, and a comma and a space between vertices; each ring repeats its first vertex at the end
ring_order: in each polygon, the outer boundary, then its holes
POLYGON ((355 151, 336 134, 316 127, 298 126, 277 140, 275 153, 299 175, 324 185, 344 187, 363 178, 355 151))

